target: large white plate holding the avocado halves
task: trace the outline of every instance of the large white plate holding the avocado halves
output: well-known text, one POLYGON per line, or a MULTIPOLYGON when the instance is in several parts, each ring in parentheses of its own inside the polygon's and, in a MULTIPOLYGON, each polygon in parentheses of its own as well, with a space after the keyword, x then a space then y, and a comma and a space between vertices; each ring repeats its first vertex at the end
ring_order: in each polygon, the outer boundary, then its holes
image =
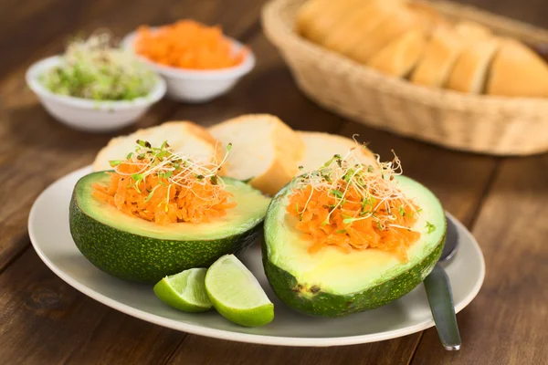
MULTIPOLYGON (((385 307, 345 318, 314 318, 287 308, 274 296, 264 276, 260 249, 251 247, 242 261, 258 277, 274 303, 275 318, 261 328, 243 328, 214 310, 189 314, 165 306, 152 286, 131 284, 109 276, 79 253, 68 229, 68 202, 74 184, 91 172, 85 167, 50 185, 34 203, 28 232, 37 254, 70 286, 130 316, 188 333, 242 342, 285 346, 339 346, 394 339, 434 326, 422 285, 385 307)), ((476 297, 485 275, 483 255, 469 231, 458 227, 458 253, 445 267, 453 287, 457 311, 476 297)))

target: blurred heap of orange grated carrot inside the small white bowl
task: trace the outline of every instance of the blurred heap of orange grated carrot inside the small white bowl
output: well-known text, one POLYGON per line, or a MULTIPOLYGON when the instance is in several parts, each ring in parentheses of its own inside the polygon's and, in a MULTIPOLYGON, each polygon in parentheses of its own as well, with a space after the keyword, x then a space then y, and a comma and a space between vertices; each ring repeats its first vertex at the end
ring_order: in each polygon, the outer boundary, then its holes
POLYGON ((190 69, 231 68, 239 65, 248 53, 245 48, 235 52, 220 27, 193 20, 180 20, 156 29, 139 27, 135 51, 165 66, 190 69))

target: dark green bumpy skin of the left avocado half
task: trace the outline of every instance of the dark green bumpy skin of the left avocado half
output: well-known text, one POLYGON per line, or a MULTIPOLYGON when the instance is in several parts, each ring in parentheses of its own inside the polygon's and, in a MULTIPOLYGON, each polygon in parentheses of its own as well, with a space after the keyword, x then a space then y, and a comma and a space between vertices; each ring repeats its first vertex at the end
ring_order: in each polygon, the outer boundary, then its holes
POLYGON ((208 267, 218 257, 237 254, 258 237, 262 222, 241 235, 208 241, 173 241, 133 235, 101 224, 80 208, 76 191, 69 206, 70 234, 91 264, 111 276, 156 283, 163 276, 193 267, 208 267))

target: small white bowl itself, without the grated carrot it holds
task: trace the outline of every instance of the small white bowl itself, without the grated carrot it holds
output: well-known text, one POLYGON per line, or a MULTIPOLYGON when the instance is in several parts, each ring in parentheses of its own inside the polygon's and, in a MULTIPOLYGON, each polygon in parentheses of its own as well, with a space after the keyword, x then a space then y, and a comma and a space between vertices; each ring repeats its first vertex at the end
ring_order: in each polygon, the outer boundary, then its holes
MULTIPOLYGON (((125 36, 121 42, 122 47, 134 52, 133 42, 136 33, 125 36)), ((237 40, 227 37, 232 43, 234 52, 244 47, 237 40)), ((189 103, 203 103, 226 94, 237 81, 255 67, 255 57, 251 50, 239 65, 232 68, 212 70, 194 70, 184 68, 172 68, 151 61, 146 57, 137 55, 144 63, 149 65, 158 74, 162 75, 167 83, 167 96, 177 101, 189 103)))

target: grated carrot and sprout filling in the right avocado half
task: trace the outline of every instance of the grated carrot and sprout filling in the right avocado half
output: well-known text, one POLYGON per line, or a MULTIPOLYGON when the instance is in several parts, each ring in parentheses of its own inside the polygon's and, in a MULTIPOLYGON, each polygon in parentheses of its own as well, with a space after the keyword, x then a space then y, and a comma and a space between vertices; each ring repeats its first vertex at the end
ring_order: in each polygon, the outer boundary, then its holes
POLYGON ((287 211, 311 241, 309 252, 329 245, 349 254, 377 248, 407 261, 407 249, 420 238, 411 230, 419 209, 397 188, 393 175, 400 173, 397 157, 371 166, 348 153, 298 177, 287 211))

